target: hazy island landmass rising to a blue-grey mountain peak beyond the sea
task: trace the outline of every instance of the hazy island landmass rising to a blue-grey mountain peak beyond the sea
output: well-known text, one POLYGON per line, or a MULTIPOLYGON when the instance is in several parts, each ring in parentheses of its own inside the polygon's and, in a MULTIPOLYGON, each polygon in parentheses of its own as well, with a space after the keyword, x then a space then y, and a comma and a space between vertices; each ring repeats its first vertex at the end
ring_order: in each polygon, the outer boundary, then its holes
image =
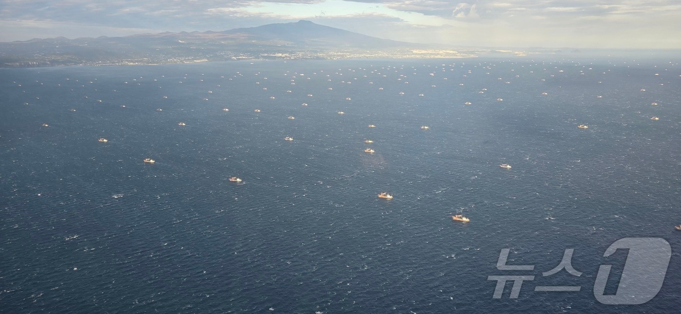
POLYGON ((475 56, 380 39, 307 20, 227 31, 56 37, 0 43, 0 67, 193 63, 239 59, 426 58, 475 56), (425 50, 424 50, 425 49, 425 50))

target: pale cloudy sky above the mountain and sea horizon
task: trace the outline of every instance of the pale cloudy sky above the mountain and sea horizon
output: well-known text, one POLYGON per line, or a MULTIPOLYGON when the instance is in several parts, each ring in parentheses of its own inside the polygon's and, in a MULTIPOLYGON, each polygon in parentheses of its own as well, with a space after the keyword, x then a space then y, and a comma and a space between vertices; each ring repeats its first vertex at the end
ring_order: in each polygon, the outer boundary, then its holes
POLYGON ((681 49, 681 0, 0 0, 0 41, 298 20, 454 48, 681 49))

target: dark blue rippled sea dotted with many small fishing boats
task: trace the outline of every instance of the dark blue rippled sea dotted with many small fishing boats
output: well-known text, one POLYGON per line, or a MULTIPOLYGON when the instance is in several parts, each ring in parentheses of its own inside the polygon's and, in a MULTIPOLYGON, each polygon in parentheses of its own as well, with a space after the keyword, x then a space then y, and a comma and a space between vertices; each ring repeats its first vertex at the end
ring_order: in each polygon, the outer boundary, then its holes
POLYGON ((677 62, 0 69, 0 311, 668 313, 677 62), (621 273, 626 251, 603 252, 624 237, 667 240, 667 276, 649 302, 604 305, 595 277, 621 273), (504 248, 535 270, 497 270, 504 248), (582 276, 543 277, 570 248, 582 276), (489 275, 535 280, 493 299, 489 275))

